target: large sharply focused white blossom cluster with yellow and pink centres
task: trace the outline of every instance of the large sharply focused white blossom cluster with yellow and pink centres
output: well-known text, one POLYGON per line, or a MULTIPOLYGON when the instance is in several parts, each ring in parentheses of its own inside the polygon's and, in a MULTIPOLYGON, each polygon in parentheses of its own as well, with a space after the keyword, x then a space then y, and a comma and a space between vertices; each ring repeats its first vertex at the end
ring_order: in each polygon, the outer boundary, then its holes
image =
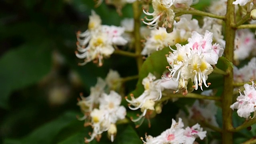
POLYGON ((192 37, 188 39, 188 44, 182 46, 176 44, 177 50, 170 47, 173 52, 166 56, 171 68, 168 75, 169 80, 178 81, 180 78, 183 82, 183 88, 186 87, 185 81, 191 79, 194 82, 193 88, 195 90, 202 85, 206 87, 208 75, 212 73, 213 68, 211 64, 217 64, 218 58, 222 56, 224 49, 219 44, 212 45, 213 33, 206 30, 204 36, 198 32, 192 32, 192 37))

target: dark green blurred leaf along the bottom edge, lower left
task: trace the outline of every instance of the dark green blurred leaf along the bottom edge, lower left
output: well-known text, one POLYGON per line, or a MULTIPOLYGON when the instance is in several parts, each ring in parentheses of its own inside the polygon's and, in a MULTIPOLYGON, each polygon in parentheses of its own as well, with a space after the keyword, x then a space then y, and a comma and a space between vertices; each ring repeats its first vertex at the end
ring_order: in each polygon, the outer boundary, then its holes
MULTIPOLYGON (((28 136, 20 140, 5 140, 5 144, 16 142, 19 144, 53 144, 54 138, 70 123, 77 121, 77 112, 66 112, 60 118, 52 122, 48 122, 40 128, 34 130, 28 136)), ((83 126, 82 126, 83 127, 83 126)))

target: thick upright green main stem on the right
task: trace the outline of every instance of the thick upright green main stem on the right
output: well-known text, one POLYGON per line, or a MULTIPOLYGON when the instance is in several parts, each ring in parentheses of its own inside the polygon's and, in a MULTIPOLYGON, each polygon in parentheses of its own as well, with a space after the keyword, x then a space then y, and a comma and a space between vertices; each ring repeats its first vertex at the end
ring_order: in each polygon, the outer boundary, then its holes
MULTIPOLYGON (((227 60, 233 62, 234 58, 234 39, 236 30, 233 28, 235 25, 235 7, 232 4, 234 0, 228 0, 227 13, 226 13, 226 48, 224 55, 227 60)), ((230 132, 232 126, 232 105, 233 101, 233 68, 228 65, 226 70, 228 75, 224 76, 224 92, 222 94, 222 144, 233 144, 233 134, 230 132)))

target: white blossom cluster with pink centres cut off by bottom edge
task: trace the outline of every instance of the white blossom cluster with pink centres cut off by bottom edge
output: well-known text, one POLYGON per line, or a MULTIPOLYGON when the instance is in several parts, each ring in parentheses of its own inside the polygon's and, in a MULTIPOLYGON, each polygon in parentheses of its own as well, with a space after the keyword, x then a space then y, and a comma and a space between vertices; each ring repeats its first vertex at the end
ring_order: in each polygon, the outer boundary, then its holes
POLYGON ((184 124, 182 119, 176 122, 172 119, 171 128, 165 130, 157 137, 147 136, 146 141, 142 139, 144 144, 193 144, 196 138, 203 140, 206 137, 206 131, 200 127, 199 124, 195 124, 192 127, 183 128, 184 124))

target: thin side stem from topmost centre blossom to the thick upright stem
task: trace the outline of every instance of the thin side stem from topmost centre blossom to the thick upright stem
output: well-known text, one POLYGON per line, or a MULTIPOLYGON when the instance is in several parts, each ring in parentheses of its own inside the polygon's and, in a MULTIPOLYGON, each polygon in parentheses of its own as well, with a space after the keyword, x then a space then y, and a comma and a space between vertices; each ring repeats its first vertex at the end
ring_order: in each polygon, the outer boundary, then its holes
POLYGON ((200 11, 200 10, 195 10, 194 8, 190 8, 189 10, 176 8, 176 9, 174 9, 174 12, 175 12, 175 16, 181 16, 183 14, 193 14, 193 15, 198 15, 198 16, 208 16, 208 17, 211 17, 211 18, 218 18, 218 19, 221 19, 221 20, 225 19, 225 16, 220 16, 220 15, 212 14, 212 13, 209 13, 209 12, 203 12, 203 11, 200 11))

